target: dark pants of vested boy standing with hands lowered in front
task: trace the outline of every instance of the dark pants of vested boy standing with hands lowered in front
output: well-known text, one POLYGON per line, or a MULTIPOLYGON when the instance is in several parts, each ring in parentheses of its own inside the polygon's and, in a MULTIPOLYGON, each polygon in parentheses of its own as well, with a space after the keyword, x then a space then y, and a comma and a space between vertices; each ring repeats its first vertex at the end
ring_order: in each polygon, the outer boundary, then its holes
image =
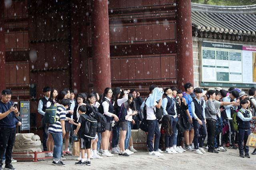
POLYGON ((204 124, 204 119, 200 119, 203 125, 200 125, 197 120, 193 119, 193 126, 194 126, 194 146, 195 149, 198 149, 198 142, 199 147, 202 148, 204 145, 204 140, 206 138, 206 127, 204 124))

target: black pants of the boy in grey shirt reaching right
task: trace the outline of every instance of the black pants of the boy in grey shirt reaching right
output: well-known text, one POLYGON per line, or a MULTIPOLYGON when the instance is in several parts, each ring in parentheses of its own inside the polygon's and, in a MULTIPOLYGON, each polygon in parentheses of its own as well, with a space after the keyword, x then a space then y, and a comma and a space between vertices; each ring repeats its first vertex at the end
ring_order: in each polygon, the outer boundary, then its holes
POLYGON ((214 150, 214 138, 215 138, 215 130, 216 130, 216 121, 206 120, 207 127, 207 141, 208 141, 208 150, 214 150))

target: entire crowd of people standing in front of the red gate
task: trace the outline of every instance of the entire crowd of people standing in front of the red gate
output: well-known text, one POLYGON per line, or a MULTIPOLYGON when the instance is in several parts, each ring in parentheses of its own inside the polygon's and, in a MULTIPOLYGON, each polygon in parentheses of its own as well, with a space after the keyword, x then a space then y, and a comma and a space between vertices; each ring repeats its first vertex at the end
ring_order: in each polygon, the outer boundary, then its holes
MULTIPOLYGON (((52 164, 56 166, 65 166, 62 160, 66 159, 64 156, 72 155, 69 149, 74 141, 80 143, 80 156, 76 159, 76 165, 90 165, 91 159, 102 159, 102 156, 110 157, 114 154, 130 157, 137 152, 133 148, 131 129, 146 125, 148 153, 152 156, 185 151, 203 155, 206 153, 204 149, 208 149, 210 153, 218 153, 226 152, 225 147, 228 147, 239 148, 240 157, 250 158, 246 142, 250 133, 256 133, 256 90, 249 89, 248 95, 232 87, 229 91, 220 87, 204 91, 194 89, 191 83, 186 83, 184 89, 185 92, 182 92, 176 87, 162 89, 150 85, 150 94, 143 101, 135 89, 107 87, 102 95, 96 92, 78 93, 75 98, 72 90, 58 91, 44 87, 44 97, 38 103, 38 113, 44 118, 47 108, 54 106, 57 109, 54 124, 47 125, 42 121, 43 148, 53 151, 47 156, 53 156, 52 164), (104 118, 104 131, 98 132, 93 138, 86 136, 84 130, 81 130, 85 128, 84 120, 91 118, 102 121, 99 117, 104 118), (109 151, 111 134, 112 149, 109 151), (207 145, 204 146, 206 135, 207 145)), ((0 122, 8 125, 0 125, 1 135, 7 135, 6 130, 2 129, 12 130, 15 124, 19 124, 16 119, 12 121, 19 112, 10 101, 11 94, 10 90, 2 91, 0 122)), ((11 134, 8 135, 12 138, 11 134)), ((14 141, 6 139, 1 142, 1 168, 6 150, 7 166, 14 169, 10 156, 14 141)), ((252 154, 256 154, 256 148, 252 154)))

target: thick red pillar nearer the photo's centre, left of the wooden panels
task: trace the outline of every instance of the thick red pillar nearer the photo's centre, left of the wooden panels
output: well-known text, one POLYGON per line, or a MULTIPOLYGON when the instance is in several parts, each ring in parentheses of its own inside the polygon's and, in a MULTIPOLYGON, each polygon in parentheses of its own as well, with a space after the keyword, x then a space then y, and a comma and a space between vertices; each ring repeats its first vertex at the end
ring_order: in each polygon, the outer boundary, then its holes
POLYGON ((92 62, 94 91, 111 87, 108 0, 92 0, 92 62))

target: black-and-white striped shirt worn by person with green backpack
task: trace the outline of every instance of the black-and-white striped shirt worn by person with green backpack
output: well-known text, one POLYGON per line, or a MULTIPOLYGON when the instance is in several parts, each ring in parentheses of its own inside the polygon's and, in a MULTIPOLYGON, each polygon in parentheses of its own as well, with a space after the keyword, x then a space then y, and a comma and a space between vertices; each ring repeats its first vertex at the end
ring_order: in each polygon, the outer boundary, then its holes
POLYGON ((60 124, 61 120, 65 121, 66 119, 66 109, 64 106, 58 107, 56 112, 56 122, 49 126, 48 132, 54 134, 62 134, 62 127, 60 124))

